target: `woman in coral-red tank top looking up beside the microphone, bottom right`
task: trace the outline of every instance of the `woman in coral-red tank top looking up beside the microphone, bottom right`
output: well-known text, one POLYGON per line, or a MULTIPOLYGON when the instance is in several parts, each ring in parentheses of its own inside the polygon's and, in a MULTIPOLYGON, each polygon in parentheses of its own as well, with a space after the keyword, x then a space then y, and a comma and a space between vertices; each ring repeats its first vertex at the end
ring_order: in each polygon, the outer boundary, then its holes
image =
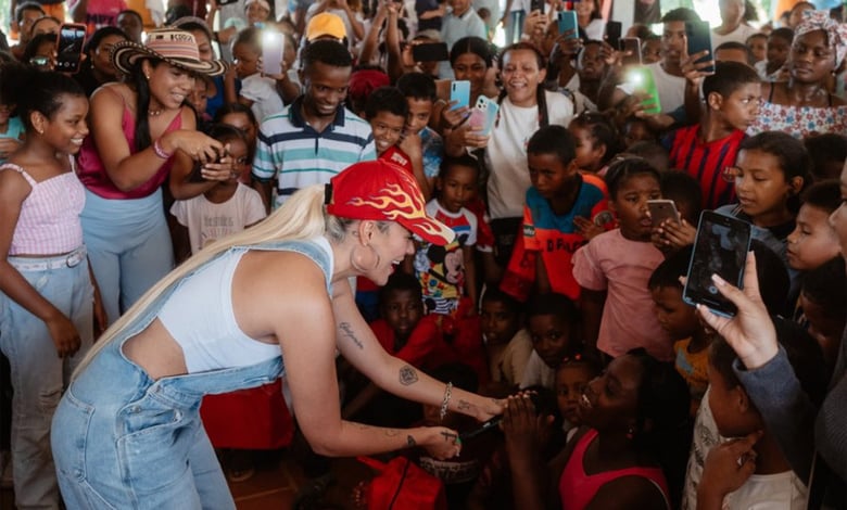
POLYGON ((516 397, 504 417, 515 501, 522 509, 549 508, 551 501, 564 510, 678 507, 688 391, 672 364, 641 348, 615 358, 586 385, 577 408, 584 426, 549 468, 538 459, 534 412, 529 398, 516 397))

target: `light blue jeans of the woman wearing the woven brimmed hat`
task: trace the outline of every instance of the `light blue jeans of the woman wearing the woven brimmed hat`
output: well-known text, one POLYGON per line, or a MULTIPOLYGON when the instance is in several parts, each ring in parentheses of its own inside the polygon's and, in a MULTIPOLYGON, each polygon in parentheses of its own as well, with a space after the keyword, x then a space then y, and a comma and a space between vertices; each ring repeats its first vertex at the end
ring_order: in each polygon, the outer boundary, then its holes
POLYGON ((162 190, 134 200, 103 199, 86 190, 80 219, 91 269, 112 323, 174 268, 162 190))

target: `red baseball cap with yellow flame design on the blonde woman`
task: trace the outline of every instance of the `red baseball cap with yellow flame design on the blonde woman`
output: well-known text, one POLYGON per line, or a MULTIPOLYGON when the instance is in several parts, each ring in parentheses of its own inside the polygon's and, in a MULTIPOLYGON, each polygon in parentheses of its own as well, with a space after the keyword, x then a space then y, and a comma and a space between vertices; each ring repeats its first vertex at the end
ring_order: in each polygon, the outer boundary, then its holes
POLYGON ((405 169, 377 160, 355 163, 330 179, 327 213, 341 218, 396 221, 433 244, 456 237, 444 224, 427 216, 423 194, 405 169))

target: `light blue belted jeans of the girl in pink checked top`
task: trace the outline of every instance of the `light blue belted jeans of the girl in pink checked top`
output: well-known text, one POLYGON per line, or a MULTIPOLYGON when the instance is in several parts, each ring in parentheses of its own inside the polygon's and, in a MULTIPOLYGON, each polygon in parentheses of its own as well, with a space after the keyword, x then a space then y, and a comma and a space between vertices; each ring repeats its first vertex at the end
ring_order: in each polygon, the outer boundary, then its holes
POLYGON ((56 356, 47 324, 0 293, 0 349, 12 375, 12 469, 20 509, 59 508, 50 421, 71 373, 93 339, 93 288, 85 248, 49 258, 9 257, 26 281, 74 322, 81 346, 56 356))

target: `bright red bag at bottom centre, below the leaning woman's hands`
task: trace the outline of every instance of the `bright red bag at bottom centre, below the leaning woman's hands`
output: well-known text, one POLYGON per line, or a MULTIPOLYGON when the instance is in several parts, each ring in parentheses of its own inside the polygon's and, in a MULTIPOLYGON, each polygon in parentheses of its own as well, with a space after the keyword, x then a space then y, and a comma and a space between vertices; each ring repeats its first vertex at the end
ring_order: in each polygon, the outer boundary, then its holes
POLYGON ((370 457, 357 457, 378 474, 365 488, 368 510, 446 510, 444 484, 406 457, 388 463, 370 457))

